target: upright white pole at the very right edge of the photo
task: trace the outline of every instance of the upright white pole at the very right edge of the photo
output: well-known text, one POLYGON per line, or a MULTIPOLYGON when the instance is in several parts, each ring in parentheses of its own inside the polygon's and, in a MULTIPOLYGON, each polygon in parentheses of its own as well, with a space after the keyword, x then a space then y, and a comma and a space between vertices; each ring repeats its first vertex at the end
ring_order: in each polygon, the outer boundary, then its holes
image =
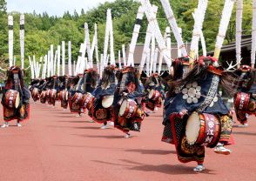
POLYGON ((252 27, 252 54, 251 54, 251 64, 253 69, 255 66, 255 53, 256 53, 256 0, 253 0, 253 27, 252 27))

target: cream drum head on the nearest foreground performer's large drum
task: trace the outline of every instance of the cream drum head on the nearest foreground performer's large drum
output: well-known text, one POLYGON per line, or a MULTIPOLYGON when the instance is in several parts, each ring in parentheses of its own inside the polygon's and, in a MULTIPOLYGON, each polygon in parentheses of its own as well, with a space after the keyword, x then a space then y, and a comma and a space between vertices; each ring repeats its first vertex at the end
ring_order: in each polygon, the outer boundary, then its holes
POLYGON ((188 144, 194 144, 198 137, 200 131, 200 117, 197 112, 193 112, 187 119, 185 126, 185 137, 188 144))

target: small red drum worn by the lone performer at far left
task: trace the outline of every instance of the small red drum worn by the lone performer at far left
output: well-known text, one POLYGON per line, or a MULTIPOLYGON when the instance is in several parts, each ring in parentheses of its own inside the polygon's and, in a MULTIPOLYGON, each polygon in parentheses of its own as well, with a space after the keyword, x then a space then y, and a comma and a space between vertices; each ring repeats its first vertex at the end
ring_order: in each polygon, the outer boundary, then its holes
POLYGON ((5 93, 5 105, 9 108, 17 108, 20 103, 19 92, 15 90, 9 90, 5 93))

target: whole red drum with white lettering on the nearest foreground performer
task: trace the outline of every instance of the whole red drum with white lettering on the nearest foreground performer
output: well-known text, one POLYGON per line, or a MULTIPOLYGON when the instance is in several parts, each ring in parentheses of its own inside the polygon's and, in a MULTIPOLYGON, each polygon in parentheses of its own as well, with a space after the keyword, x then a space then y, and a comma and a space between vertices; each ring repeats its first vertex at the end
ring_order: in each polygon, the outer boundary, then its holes
POLYGON ((214 147, 219 142, 221 125, 219 119, 211 114, 193 112, 185 126, 188 144, 214 147))

